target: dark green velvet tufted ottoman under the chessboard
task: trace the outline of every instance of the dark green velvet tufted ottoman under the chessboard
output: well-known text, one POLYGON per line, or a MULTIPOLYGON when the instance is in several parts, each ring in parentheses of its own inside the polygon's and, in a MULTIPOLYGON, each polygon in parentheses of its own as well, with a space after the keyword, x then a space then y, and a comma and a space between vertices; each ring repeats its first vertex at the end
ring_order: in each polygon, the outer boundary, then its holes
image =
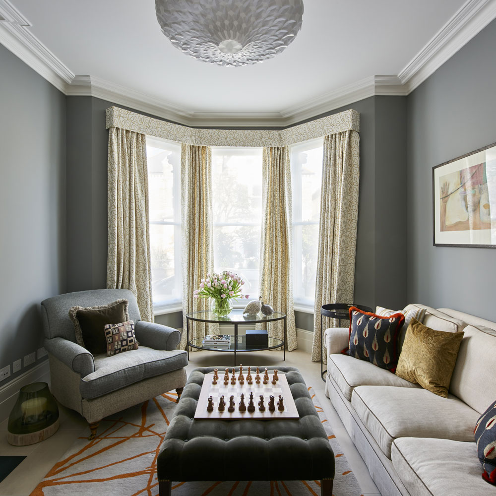
POLYGON ((298 369, 277 369, 286 373, 298 420, 194 420, 203 378, 214 368, 190 373, 157 460, 160 496, 171 494, 172 481, 318 479, 321 496, 332 495, 334 454, 307 385, 298 369))

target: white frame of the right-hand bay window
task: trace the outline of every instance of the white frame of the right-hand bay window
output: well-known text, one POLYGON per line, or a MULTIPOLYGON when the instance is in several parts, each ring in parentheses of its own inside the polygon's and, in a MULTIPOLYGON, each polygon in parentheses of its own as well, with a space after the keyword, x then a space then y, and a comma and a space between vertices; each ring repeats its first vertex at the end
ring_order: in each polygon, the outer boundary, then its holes
POLYGON ((290 164, 291 164, 291 183, 292 183, 292 197, 293 197, 293 300, 294 309, 298 311, 303 311, 307 313, 314 312, 315 300, 309 298, 297 298, 295 297, 294 288, 297 285, 302 285, 302 239, 299 236, 295 236, 295 227, 304 225, 319 225, 319 220, 316 221, 303 221, 302 218, 302 196, 299 194, 302 188, 302 176, 301 174, 295 173, 295 159, 294 155, 297 153, 306 152, 312 150, 313 148, 323 147, 324 138, 310 139, 302 143, 298 143, 290 146, 290 164), (297 220, 295 220, 297 219, 297 220), (297 256, 298 255, 298 256, 297 256))

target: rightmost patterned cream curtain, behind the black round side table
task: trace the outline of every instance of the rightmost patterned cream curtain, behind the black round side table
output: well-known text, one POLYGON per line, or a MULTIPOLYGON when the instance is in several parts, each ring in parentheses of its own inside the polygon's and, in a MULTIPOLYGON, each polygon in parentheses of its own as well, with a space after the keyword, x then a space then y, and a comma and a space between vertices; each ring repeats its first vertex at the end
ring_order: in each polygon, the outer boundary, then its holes
POLYGON ((313 312, 313 362, 319 361, 322 354, 320 307, 330 303, 353 303, 359 178, 358 132, 347 130, 325 136, 313 312))

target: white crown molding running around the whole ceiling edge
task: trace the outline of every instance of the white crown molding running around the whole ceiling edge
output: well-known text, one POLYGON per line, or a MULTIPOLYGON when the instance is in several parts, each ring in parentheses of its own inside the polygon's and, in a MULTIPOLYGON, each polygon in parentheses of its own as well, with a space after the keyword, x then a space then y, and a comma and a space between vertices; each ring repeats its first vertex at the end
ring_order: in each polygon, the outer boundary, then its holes
POLYGON ((188 126, 284 127, 374 95, 408 95, 495 17, 496 0, 467 0, 398 76, 367 77, 273 113, 189 112, 95 76, 75 76, 30 32, 31 23, 9 0, 0 0, 0 43, 66 95, 101 98, 188 126))

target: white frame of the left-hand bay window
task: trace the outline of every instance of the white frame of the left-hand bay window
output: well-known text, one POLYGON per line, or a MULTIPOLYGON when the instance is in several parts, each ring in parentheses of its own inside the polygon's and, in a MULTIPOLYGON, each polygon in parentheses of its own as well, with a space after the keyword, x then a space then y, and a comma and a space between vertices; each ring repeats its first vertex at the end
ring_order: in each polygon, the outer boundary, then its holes
MULTIPOLYGON (((181 143, 168 139, 157 138, 155 136, 146 136, 146 144, 161 148, 166 143, 171 149, 179 154, 181 160, 181 143)), ((181 167, 175 167, 173 170, 174 177, 174 220, 172 221, 154 221, 150 219, 150 225, 168 225, 174 226, 174 293, 179 295, 171 300, 162 302, 153 302, 153 313, 162 315, 174 311, 183 310, 183 260, 182 260, 182 222, 181 222, 181 167)), ((153 297, 153 294, 152 294, 153 297)))

